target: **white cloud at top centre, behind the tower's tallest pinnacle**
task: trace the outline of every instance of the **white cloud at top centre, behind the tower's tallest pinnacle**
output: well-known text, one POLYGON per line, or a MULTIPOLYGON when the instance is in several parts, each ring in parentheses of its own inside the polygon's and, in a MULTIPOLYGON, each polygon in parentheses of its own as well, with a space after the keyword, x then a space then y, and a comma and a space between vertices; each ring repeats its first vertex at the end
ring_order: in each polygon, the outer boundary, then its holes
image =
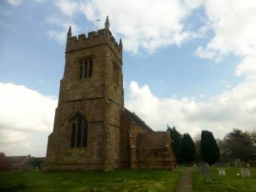
POLYGON ((159 47, 179 46, 197 37, 197 33, 184 29, 183 20, 201 5, 202 1, 96 0, 81 3, 81 10, 92 21, 109 15, 112 32, 122 37, 125 50, 138 53, 143 48, 153 53, 159 47))

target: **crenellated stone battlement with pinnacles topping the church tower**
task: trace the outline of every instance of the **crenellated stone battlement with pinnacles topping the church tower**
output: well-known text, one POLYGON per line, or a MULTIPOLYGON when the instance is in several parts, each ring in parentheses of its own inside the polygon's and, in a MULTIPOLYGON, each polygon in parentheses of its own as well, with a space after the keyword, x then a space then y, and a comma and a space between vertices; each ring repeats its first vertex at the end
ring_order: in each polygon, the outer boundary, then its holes
POLYGON ((122 57, 122 41, 120 39, 119 44, 115 40, 114 36, 109 30, 109 18, 107 16, 105 28, 100 29, 97 32, 91 31, 86 34, 80 34, 77 36, 72 36, 71 27, 67 34, 67 45, 66 53, 74 52, 76 50, 87 49, 89 47, 108 44, 115 53, 119 53, 118 57, 122 57))

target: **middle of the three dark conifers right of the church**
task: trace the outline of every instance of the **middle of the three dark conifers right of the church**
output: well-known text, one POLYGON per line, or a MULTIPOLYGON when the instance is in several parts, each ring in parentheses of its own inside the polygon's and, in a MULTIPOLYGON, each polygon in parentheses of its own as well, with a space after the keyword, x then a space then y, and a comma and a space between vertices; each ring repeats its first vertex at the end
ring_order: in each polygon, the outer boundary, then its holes
POLYGON ((196 147, 191 136, 186 133, 181 140, 182 157, 185 161, 191 162, 196 160, 196 147))

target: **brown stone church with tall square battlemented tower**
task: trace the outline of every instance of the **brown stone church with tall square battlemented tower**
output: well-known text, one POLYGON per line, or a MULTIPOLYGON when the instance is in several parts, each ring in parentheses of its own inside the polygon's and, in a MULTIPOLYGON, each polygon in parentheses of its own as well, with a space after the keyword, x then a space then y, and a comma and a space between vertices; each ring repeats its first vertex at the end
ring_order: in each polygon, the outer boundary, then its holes
POLYGON ((122 41, 105 28, 67 34, 44 170, 176 167, 170 131, 155 132, 124 108, 122 41))

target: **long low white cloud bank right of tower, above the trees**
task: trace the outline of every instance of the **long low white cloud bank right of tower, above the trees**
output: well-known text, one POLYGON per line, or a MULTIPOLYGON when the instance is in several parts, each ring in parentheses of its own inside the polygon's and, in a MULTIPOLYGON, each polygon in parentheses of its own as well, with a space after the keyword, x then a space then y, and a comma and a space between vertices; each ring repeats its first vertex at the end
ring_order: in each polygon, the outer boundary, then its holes
POLYGON ((211 131, 222 138, 233 128, 253 129, 256 119, 256 82, 244 82, 230 91, 212 96, 206 102, 193 98, 164 98, 154 96, 146 85, 139 87, 130 83, 130 98, 125 107, 135 112, 155 131, 165 130, 166 125, 175 125, 180 133, 192 137, 202 130, 211 131))

